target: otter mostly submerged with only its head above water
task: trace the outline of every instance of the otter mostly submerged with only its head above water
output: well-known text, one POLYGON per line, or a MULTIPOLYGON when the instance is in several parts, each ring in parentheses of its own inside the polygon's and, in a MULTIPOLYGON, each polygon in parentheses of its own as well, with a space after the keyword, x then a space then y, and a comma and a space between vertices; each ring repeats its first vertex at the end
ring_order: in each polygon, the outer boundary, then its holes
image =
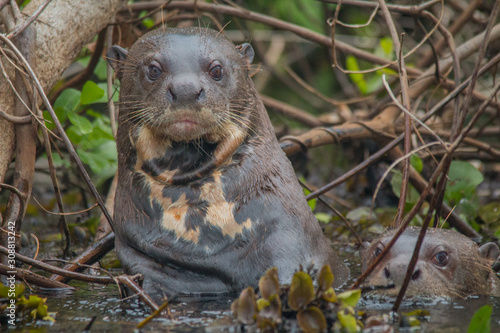
MULTIPOLYGON (((386 232, 371 244, 364 245, 365 249, 361 251, 363 272, 383 251, 395 232, 386 232)), ((366 284, 394 283, 396 288, 381 292, 396 296, 403 284, 419 233, 419 228, 407 228, 370 274, 366 284)), ((452 298, 468 295, 500 296, 498 279, 491 269, 499 253, 494 243, 478 247, 456 231, 429 228, 406 295, 452 298)))

